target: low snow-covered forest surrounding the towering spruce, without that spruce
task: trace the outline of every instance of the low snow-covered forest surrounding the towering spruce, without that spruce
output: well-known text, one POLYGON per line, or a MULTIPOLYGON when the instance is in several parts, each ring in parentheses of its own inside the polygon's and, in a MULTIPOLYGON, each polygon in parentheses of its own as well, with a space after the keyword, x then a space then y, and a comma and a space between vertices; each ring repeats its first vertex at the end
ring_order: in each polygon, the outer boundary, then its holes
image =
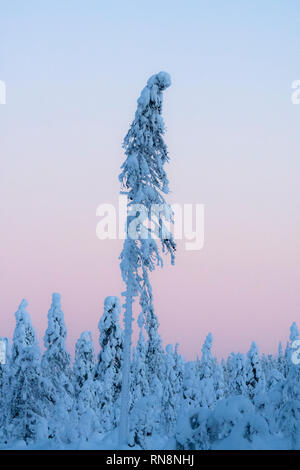
MULTIPOLYGON (((13 341, 0 365, 1 448, 117 448, 124 332, 120 302, 107 297, 100 353, 83 332, 71 360, 59 294, 53 294, 44 352, 23 300, 13 341)), ((133 449, 295 449, 300 447, 300 368, 291 361, 294 323, 278 354, 255 343, 221 362, 208 334, 201 355, 185 362, 141 329, 130 370, 129 446, 133 449), (153 349, 152 344, 156 347, 153 349)), ((199 351, 200 352, 200 351, 199 351)))

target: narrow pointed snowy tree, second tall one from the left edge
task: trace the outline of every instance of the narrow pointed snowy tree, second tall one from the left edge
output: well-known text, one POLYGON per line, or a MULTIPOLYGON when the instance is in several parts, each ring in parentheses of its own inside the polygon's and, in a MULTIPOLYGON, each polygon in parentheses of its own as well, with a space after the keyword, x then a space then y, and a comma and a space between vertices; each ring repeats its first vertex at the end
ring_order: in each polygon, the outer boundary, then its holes
POLYGON ((66 351, 67 329, 61 310, 61 296, 54 293, 48 311, 48 328, 44 336, 45 352, 42 357, 45 394, 49 405, 49 435, 58 442, 73 438, 74 388, 71 357, 66 351))

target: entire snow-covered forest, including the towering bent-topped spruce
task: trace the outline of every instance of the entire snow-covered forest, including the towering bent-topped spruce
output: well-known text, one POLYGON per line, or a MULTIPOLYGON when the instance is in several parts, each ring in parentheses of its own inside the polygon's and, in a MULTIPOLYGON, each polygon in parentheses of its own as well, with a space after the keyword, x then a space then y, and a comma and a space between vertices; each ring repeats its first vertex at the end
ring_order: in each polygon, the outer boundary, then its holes
POLYGON ((13 340, 3 340, 3 449, 300 448, 300 366, 292 361, 299 340, 295 323, 286 347, 279 345, 275 356, 261 355, 253 342, 246 355, 232 353, 219 362, 211 334, 194 362, 183 360, 178 345, 162 346, 149 273, 163 264, 156 240, 172 264, 175 260, 176 244, 163 224, 172 221, 163 196, 168 193, 164 165, 169 156, 161 116, 162 92, 170 84, 165 72, 150 77, 123 144, 126 159, 119 179, 128 197, 120 256, 124 329, 119 298, 107 297, 98 325, 98 357, 91 333, 83 332, 72 361, 61 297, 53 294, 42 353, 23 300, 13 340), (145 228, 140 212, 151 219, 154 206, 156 225, 145 228), (139 334, 132 348, 137 299, 139 334))

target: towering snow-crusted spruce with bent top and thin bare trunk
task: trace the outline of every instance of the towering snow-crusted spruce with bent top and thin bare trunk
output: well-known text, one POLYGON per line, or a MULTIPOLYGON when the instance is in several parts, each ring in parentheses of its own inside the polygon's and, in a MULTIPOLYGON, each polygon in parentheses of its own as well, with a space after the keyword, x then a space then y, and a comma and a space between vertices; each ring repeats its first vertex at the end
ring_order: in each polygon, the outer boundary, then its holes
POLYGON ((138 99, 135 118, 123 143, 126 160, 121 167, 119 179, 123 186, 121 193, 128 197, 128 215, 126 239, 120 256, 122 278, 126 284, 126 291, 123 294, 125 337, 120 446, 128 442, 132 304, 134 298, 140 296, 142 314, 149 336, 149 352, 151 350, 154 352, 151 342, 160 349, 156 335, 158 321, 154 313, 149 281, 149 272, 153 271, 156 265, 163 264, 155 238, 160 239, 162 251, 171 255, 172 264, 175 258, 176 247, 173 237, 163 224, 163 218, 168 222, 172 220, 172 212, 163 197, 163 194, 169 191, 164 170, 164 164, 168 162, 169 157, 163 140, 162 92, 170 85, 170 75, 166 72, 159 72, 148 80, 138 99), (156 223, 154 227, 153 224, 149 226, 147 221, 152 219, 153 222, 154 215, 156 223))

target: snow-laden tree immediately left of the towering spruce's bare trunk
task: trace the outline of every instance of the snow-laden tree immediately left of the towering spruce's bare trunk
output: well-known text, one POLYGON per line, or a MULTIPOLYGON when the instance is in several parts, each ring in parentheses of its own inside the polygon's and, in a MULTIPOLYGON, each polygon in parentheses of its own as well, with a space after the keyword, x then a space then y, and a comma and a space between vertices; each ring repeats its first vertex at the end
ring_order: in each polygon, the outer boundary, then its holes
POLYGON ((98 328, 100 353, 95 380, 100 382, 98 413, 104 431, 116 427, 122 383, 123 331, 119 324, 121 307, 118 297, 106 297, 98 328))

